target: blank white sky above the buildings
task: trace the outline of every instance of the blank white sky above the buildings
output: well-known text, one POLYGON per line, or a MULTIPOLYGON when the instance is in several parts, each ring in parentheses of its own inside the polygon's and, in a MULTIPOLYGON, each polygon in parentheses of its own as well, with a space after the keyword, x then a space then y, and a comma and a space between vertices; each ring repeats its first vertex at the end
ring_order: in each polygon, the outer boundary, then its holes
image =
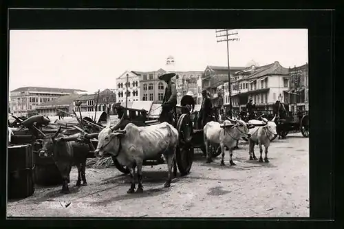
MULTIPOLYGON (((240 41, 230 42, 230 66, 308 62, 306 29, 235 31, 240 41)), ((164 68, 169 55, 178 71, 227 66, 226 42, 217 43, 215 30, 11 30, 10 91, 36 86, 93 93, 115 88, 126 70, 164 68)))

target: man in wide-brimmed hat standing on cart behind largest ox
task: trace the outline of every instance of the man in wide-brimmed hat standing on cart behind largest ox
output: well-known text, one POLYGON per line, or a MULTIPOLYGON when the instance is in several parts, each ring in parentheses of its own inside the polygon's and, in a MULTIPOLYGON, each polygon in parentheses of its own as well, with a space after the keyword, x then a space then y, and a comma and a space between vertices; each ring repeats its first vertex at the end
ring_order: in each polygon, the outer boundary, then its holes
POLYGON ((160 113, 160 122, 169 122, 173 125, 173 114, 175 113, 175 106, 177 105, 177 88, 171 78, 175 73, 167 73, 159 76, 160 80, 164 80, 167 84, 165 89, 164 99, 162 100, 162 111, 160 113))

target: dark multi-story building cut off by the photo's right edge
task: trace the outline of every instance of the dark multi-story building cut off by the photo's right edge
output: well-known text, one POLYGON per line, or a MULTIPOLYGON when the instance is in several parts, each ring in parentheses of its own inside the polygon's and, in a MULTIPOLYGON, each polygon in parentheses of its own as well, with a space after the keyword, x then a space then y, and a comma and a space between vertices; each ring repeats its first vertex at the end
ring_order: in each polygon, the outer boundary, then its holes
POLYGON ((309 111, 308 103, 308 63, 299 67, 289 68, 290 90, 284 91, 284 102, 289 110, 309 111))

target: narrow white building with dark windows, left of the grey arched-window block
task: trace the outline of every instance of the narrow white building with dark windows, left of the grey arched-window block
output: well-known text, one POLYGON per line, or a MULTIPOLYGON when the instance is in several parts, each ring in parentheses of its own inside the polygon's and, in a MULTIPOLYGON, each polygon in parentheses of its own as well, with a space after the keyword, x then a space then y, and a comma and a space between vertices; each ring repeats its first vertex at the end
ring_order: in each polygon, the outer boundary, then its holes
POLYGON ((138 101, 140 100, 140 72, 129 72, 126 71, 123 74, 121 74, 116 79, 116 89, 115 93, 117 96, 118 102, 124 102, 126 100, 127 96, 127 77, 129 80, 128 83, 128 101, 138 101))

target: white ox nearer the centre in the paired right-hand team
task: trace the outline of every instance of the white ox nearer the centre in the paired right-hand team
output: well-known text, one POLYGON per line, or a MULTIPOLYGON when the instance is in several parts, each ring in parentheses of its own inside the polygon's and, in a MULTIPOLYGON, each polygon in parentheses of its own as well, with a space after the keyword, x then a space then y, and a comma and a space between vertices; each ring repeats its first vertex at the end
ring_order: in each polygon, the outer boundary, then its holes
POLYGON ((219 122, 208 122, 204 126, 204 144, 206 145, 206 163, 210 163, 211 153, 209 153, 209 145, 215 144, 221 147, 222 160, 221 165, 224 166, 224 149, 229 150, 230 165, 235 165, 233 162, 233 149, 237 145, 239 138, 250 138, 248 133, 248 124, 243 120, 225 120, 224 124, 219 122), (233 122, 233 123, 232 123, 233 122))

